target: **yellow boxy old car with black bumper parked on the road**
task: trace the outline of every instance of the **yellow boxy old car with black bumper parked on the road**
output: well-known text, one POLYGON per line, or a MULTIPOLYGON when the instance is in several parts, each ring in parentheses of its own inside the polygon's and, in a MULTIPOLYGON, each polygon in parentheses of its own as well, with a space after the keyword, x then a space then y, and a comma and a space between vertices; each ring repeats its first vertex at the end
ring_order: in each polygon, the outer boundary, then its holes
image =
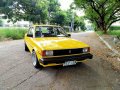
POLYGON ((75 65, 92 59, 89 45, 70 38, 60 26, 34 25, 24 37, 25 51, 32 54, 33 66, 75 65))

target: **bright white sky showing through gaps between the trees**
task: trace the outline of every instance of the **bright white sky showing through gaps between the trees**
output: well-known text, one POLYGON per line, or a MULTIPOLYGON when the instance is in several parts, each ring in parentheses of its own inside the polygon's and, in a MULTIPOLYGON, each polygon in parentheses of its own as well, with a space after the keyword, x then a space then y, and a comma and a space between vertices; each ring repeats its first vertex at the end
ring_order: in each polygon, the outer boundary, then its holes
MULTIPOLYGON (((59 2, 60 2, 60 4, 61 4, 61 9, 62 10, 67 10, 67 9, 69 9, 70 8, 70 4, 74 1, 74 0, 58 0, 59 2)), ((84 16, 84 12, 82 11, 82 10, 77 10, 76 11, 76 14, 78 15, 78 16, 84 16)))

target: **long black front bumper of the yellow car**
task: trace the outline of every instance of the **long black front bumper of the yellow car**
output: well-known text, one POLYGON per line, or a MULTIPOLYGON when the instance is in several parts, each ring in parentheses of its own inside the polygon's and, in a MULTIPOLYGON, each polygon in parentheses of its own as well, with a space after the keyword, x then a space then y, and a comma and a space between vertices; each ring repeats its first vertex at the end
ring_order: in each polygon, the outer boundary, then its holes
POLYGON ((61 64, 61 63, 65 63, 66 61, 83 61, 85 59, 92 59, 93 55, 90 53, 87 54, 77 54, 77 55, 68 55, 68 56, 58 56, 58 57, 46 57, 46 58, 42 58, 40 60, 40 63, 43 65, 47 65, 47 64, 61 64))

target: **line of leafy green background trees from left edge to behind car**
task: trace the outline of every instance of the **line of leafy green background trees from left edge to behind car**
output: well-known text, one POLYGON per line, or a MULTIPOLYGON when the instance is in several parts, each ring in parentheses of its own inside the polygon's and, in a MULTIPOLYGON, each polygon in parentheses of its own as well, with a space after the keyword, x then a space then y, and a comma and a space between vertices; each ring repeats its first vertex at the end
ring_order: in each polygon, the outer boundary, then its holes
POLYGON ((84 20, 75 15, 73 18, 73 4, 68 11, 60 9, 58 0, 1 0, 0 13, 16 22, 27 20, 38 24, 57 24, 61 26, 71 26, 74 19, 74 29, 85 26, 84 20))

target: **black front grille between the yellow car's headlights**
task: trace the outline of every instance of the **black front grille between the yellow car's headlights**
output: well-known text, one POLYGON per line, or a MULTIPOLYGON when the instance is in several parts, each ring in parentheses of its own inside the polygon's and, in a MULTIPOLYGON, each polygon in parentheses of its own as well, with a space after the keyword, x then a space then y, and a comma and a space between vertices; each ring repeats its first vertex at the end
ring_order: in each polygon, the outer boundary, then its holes
POLYGON ((70 54, 79 54, 82 53, 83 49, 66 49, 66 50, 54 50, 53 55, 59 56, 59 55, 70 55, 70 54))

